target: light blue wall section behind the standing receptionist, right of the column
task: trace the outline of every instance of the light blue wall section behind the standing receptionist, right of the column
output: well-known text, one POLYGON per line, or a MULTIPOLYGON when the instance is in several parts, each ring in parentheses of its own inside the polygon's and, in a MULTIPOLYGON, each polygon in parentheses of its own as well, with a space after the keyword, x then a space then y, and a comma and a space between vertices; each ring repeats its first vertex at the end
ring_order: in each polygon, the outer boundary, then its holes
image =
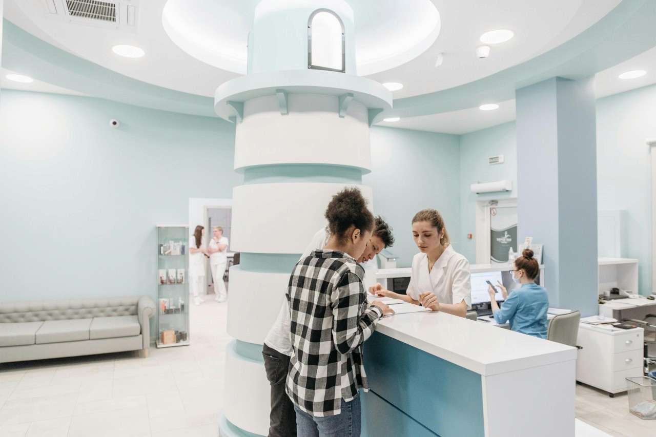
POLYGON ((362 177, 373 187, 374 212, 394 228, 390 251, 398 267, 409 267, 419 253, 412 238, 412 218, 424 208, 444 216, 456 251, 461 251, 459 138, 388 127, 371 128, 371 167, 362 177))

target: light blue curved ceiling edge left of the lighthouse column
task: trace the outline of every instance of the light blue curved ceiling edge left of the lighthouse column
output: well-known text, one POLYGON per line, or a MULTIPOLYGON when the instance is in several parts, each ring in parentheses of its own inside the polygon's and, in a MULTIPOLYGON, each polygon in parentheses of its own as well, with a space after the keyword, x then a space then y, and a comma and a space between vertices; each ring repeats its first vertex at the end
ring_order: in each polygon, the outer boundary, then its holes
POLYGON ((216 117, 214 99, 157 87, 63 51, 3 19, 3 67, 59 87, 155 110, 216 117))

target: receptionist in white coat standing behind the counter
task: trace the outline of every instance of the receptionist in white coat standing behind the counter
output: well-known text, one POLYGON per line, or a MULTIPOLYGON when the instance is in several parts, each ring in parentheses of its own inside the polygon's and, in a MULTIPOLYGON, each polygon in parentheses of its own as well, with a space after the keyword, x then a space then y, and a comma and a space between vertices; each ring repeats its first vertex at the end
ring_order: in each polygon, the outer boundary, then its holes
POLYGON ((386 290, 380 283, 369 287, 369 293, 464 317, 472 307, 469 262, 451 247, 441 214, 422 209, 412 220, 412 233, 420 253, 413 258, 407 294, 386 290))

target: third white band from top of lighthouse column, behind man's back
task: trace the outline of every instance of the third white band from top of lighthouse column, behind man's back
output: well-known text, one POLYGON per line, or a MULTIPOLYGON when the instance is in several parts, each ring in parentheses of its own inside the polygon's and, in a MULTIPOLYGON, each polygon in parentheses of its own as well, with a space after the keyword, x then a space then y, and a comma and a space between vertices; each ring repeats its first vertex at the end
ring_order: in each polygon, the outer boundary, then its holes
POLYGON ((264 344, 285 299, 289 273, 244 272, 237 267, 230 269, 228 335, 264 344))

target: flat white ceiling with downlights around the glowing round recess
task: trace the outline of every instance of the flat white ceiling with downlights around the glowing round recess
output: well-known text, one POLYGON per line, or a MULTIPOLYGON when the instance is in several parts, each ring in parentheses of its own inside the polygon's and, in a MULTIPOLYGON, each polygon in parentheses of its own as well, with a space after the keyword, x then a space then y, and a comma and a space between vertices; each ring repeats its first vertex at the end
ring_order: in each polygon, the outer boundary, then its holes
MULTIPOLYGON (((254 9, 257 0, 216 1, 233 7, 224 11, 232 23, 230 32, 239 35, 240 29, 243 29, 247 33, 250 21, 243 14, 254 9)), ((394 98, 449 89, 520 64, 575 37, 620 3, 620 0, 430 1, 440 12, 441 30, 436 41, 417 58, 369 76, 380 82, 403 83, 405 86, 394 92, 394 98), (481 44, 478 37, 495 28, 510 28, 516 32, 516 36, 507 43, 493 45, 488 58, 476 58, 474 50, 481 44), (443 64, 436 67, 435 61, 440 53, 443 53, 443 64)), ((43 0, 5 0, 4 15, 20 28, 55 47, 117 73, 175 91, 213 96, 218 85, 239 76, 237 73, 201 62, 171 40, 162 24, 166 0, 136 2, 139 7, 136 31, 72 24, 67 20, 53 19, 48 16, 43 0), (111 51, 111 47, 116 44, 137 45, 144 49, 146 56, 138 59, 122 58, 111 51)), ((377 21, 389 23, 389 20, 394 19, 394 9, 386 9, 384 6, 398 5, 395 2, 396 0, 351 0, 349 3, 356 5, 356 23, 363 23, 363 27, 369 28, 368 30, 375 34, 375 31, 384 31, 375 27, 377 21), (369 15, 367 11, 370 12, 369 15), (364 16, 366 19, 358 21, 358 16, 364 16)), ((2 73, 0 86, 3 88, 82 95, 38 81, 31 84, 15 83, 5 79, 5 70, 2 73)), ((656 83, 656 47, 596 75, 598 97, 652 83, 656 83), (647 70, 647 75, 630 80, 617 78, 619 73, 628 70, 647 70)), ((489 102, 481 102, 483 103, 489 102)), ((497 103, 500 108, 494 111, 470 108, 378 124, 462 134, 514 120, 514 100, 497 103)))

